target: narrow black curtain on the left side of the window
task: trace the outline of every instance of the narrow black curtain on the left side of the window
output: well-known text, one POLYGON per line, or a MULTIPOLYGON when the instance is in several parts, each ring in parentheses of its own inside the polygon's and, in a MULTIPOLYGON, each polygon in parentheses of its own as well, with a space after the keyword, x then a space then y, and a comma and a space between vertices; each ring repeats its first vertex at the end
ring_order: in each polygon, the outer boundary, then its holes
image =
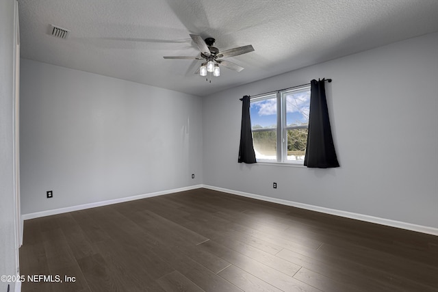
POLYGON ((249 115, 249 96, 242 98, 242 126, 240 128, 239 163, 256 163, 253 146, 253 133, 251 133, 251 119, 249 115))

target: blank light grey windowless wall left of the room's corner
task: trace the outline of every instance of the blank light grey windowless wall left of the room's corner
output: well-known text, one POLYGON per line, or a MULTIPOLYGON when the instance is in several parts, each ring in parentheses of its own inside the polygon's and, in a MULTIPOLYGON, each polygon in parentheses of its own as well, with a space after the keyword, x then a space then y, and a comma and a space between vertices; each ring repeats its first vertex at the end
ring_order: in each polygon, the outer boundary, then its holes
POLYGON ((22 213, 201 184, 201 110, 197 96, 21 59, 22 213))

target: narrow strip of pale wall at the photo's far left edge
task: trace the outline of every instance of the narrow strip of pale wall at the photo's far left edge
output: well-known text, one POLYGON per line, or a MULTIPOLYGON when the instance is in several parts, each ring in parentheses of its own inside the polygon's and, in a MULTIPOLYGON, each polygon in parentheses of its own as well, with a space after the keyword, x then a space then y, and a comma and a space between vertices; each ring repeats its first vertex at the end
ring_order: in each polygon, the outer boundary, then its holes
MULTIPOLYGON (((0 275, 15 276, 16 214, 14 205, 14 0, 0 1, 0 275)), ((14 282, 0 282, 0 291, 14 282)))

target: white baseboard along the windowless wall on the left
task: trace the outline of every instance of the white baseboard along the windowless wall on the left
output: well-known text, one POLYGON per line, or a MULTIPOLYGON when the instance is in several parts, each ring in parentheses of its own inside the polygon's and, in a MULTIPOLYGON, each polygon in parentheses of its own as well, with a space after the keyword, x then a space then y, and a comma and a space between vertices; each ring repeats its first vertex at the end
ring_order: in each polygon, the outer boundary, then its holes
POLYGON ((57 215, 57 214, 61 214, 61 213, 67 213, 67 212, 73 212, 73 211, 79 211, 79 210, 84 210, 84 209, 106 206, 109 204, 117 204, 117 203, 121 203, 121 202, 129 202, 129 201, 133 201, 133 200, 140 200, 140 199, 144 199, 144 198, 151 198, 151 197, 155 197, 155 196, 173 194, 173 193, 177 193, 179 191, 189 191, 190 189, 199 189, 201 187, 203 187, 203 185, 190 185, 189 187, 179 187, 178 189, 166 189, 165 191, 156 191, 154 193, 142 194, 142 195, 138 195, 138 196, 130 196, 130 197, 118 198, 118 199, 114 199, 114 200, 106 200, 106 201, 102 201, 102 202, 80 204, 80 205, 76 205, 76 206, 72 206, 72 207, 65 207, 65 208, 60 208, 60 209, 53 209, 53 210, 47 210, 47 211, 41 211, 41 212, 35 212, 35 213, 22 214, 21 220, 22 220, 22 222, 24 222, 24 220, 34 219, 34 218, 38 218, 38 217, 57 215))

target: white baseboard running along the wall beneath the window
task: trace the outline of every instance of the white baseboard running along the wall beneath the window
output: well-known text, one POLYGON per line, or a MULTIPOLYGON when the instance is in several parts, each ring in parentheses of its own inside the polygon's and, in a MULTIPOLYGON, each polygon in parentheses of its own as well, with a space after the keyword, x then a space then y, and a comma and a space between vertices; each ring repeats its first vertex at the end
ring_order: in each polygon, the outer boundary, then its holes
POLYGON ((321 213, 337 215, 337 216, 346 217, 346 218, 350 218, 350 219, 361 220, 361 221, 365 221, 365 222, 371 222, 371 223, 376 223, 376 224, 381 224, 381 225, 386 225, 386 226, 391 226, 391 227, 396 227, 396 228, 407 229, 407 230, 416 231, 419 233, 438 235, 438 228, 433 228, 433 227, 429 227, 429 226, 416 225, 416 224, 411 224, 411 223, 407 223, 407 222, 389 220, 389 219, 385 219, 385 218, 381 218, 381 217, 374 217, 374 216, 363 215, 363 214, 359 214, 359 213, 351 213, 351 212, 347 212, 347 211, 340 211, 340 210, 336 210, 336 209, 318 207, 318 206, 313 206, 311 204, 302 204, 299 202, 292 202, 289 200, 270 198, 270 197, 266 197, 266 196, 245 193, 243 191, 234 191, 233 189, 224 189, 222 187, 214 187, 211 185, 203 185, 203 187, 205 187, 205 189, 212 189, 214 191, 222 191, 224 193, 229 193, 229 194, 233 194, 233 195, 237 195, 237 196, 244 196, 244 197, 253 198, 253 199, 257 199, 257 200, 274 202, 277 204, 283 204, 283 205, 297 207, 297 208, 301 208, 301 209, 307 209, 307 210, 311 210, 311 211, 317 211, 317 212, 321 212, 321 213))

